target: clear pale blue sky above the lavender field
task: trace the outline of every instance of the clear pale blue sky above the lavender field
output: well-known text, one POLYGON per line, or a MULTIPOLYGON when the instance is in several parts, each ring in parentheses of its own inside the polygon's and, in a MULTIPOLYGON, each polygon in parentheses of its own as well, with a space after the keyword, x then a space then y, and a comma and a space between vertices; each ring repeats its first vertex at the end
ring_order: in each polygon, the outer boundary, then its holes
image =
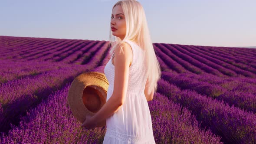
MULTIPOLYGON (((2 0, 0 36, 108 40, 118 0, 2 0)), ((138 0, 153 43, 256 46, 256 0, 138 0)))

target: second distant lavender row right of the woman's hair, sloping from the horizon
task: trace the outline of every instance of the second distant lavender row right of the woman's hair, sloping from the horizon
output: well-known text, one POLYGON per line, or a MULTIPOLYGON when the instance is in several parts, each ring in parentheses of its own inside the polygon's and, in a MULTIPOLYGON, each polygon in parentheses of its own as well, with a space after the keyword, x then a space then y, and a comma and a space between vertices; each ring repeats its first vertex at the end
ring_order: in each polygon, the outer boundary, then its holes
POLYGON ((169 49, 167 49, 162 44, 156 43, 154 45, 157 46, 159 49, 161 49, 161 51, 163 51, 167 56, 171 57, 171 59, 174 59, 177 63, 181 64, 188 71, 196 73, 196 74, 203 73, 203 71, 201 69, 197 68, 194 65, 191 65, 189 62, 179 58, 178 56, 175 56, 169 49))

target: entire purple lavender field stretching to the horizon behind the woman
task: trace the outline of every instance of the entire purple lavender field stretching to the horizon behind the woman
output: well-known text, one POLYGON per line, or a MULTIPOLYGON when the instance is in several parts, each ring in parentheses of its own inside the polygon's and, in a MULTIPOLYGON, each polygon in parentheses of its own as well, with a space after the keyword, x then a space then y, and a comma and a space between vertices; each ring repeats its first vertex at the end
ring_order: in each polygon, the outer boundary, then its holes
MULTIPOLYGON (((158 144, 256 144, 256 49, 153 43, 148 101, 158 144)), ((0 36, 0 144, 102 144, 67 102, 73 79, 104 73, 108 41, 0 36)))

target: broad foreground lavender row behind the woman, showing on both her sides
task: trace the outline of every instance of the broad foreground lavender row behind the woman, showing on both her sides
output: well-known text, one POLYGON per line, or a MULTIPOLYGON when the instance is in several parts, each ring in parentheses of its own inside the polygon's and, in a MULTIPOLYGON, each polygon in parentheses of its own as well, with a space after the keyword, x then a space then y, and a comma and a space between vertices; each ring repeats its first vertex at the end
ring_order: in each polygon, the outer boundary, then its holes
MULTIPOLYGON (((94 131, 79 128, 67 103, 70 83, 48 96, 36 108, 21 118, 18 126, 12 126, 8 134, 2 134, 0 143, 97 143, 102 144, 105 127, 94 131), (65 101, 65 102, 63 102, 65 101), (33 135, 32 135, 33 134, 33 135)), ((169 101, 157 93, 148 103, 151 110, 156 142, 221 144, 220 137, 200 124, 191 111, 169 101)))

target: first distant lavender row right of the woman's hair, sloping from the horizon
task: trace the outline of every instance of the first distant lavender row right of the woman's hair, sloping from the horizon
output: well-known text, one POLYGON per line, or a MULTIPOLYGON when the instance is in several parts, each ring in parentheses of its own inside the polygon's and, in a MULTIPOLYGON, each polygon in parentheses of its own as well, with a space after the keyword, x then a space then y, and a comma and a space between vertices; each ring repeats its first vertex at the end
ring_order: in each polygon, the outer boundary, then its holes
POLYGON ((165 64, 168 65, 168 67, 170 69, 174 70, 177 73, 189 72, 183 66, 181 66, 179 63, 175 62, 168 55, 166 55, 164 52, 162 52, 161 49, 159 49, 157 46, 155 46, 155 44, 153 46, 154 46, 157 56, 161 57, 161 59, 164 59, 165 64))

